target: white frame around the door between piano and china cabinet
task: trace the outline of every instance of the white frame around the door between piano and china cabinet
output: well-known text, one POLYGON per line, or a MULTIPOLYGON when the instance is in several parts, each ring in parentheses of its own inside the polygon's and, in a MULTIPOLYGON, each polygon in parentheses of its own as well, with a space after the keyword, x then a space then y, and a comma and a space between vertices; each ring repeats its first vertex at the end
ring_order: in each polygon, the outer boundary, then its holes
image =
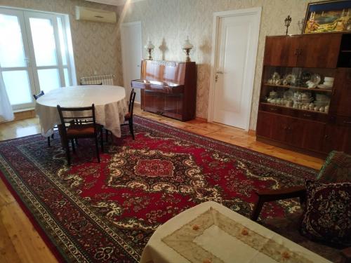
POLYGON ((250 116, 251 116, 251 107, 252 107, 252 93, 253 93, 253 81, 255 80, 255 72, 256 72, 256 62, 257 62, 257 50, 258 50, 258 37, 260 35, 260 19, 261 19, 261 12, 262 7, 254 7, 254 8, 245 8, 245 9, 238 9, 232 11, 223 11, 223 12, 216 12, 213 13, 213 29, 212 29, 212 50, 211 50, 211 74, 210 74, 210 89, 208 93, 208 112, 207 112, 207 121, 213 122, 213 111, 214 111, 214 97, 215 97, 215 75, 216 75, 216 63, 217 63, 217 53, 218 53, 218 34, 219 34, 219 21, 220 18, 232 17, 232 16, 240 16, 240 15, 255 15, 255 25, 253 30, 253 39, 250 41, 253 43, 255 48, 254 58, 255 61, 253 62, 253 70, 246 71, 247 83, 250 88, 249 93, 251 97, 249 97, 249 109, 246 116, 246 127, 245 130, 249 130, 250 126, 250 116))

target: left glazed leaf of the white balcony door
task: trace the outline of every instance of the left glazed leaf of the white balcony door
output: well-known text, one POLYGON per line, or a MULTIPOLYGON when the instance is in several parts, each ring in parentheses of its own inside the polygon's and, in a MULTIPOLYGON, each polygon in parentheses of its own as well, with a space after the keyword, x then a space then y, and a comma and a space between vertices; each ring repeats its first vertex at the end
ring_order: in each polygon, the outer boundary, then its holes
POLYGON ((29 67, 22 11, 0 8, 0 74, 13 109, 33 107, 36 92, 29 67))

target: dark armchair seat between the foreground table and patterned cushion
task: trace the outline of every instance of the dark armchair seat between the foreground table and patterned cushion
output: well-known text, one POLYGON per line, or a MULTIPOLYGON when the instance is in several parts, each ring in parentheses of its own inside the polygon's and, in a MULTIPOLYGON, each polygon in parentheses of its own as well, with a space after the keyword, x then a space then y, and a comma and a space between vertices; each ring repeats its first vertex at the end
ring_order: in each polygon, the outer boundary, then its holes
POLYGON ((331 262, 343 262, 343 257, 340 254, 339 249, 332 248, 322 243, 317 243, 316 241, 310 241, 300 234, 298 230, 300 229, 300 217, 300 213, 293 213, 287 217, 274 217, 265 220, 263 222, 263 226, 281 236, 284 236, 285 238, 288 238, 298 245, 311 250, 321 257, 331 260, 331 262))

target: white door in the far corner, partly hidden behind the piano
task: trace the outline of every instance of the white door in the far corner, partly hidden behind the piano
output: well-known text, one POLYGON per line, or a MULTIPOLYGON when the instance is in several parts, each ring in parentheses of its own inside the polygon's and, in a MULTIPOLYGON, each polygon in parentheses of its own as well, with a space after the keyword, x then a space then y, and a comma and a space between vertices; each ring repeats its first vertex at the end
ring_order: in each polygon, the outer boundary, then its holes
MULTIPOLYGON (((123 63, 123 79, 126 94, 131 92, 131 81, 140 79, 142 43, 141 23, 131 22, 121 25, 121 48, 123 63)), ((140 102, 140 90, 135 89, 135 102, 140 102)))

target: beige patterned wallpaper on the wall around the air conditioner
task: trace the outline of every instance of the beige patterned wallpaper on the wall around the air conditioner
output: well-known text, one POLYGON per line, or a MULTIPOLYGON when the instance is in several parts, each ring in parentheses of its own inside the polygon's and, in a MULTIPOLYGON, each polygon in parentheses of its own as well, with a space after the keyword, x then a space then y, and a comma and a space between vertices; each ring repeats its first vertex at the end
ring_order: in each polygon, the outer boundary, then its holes
POLYGON ((117 11, 115 6, 83 0, 0 0, 0 6, 28 8, 69 15, 77 79, 81 76, 114 74, 116 85, 123 85, 119 25, 75 20, 74 6, 117 11))

